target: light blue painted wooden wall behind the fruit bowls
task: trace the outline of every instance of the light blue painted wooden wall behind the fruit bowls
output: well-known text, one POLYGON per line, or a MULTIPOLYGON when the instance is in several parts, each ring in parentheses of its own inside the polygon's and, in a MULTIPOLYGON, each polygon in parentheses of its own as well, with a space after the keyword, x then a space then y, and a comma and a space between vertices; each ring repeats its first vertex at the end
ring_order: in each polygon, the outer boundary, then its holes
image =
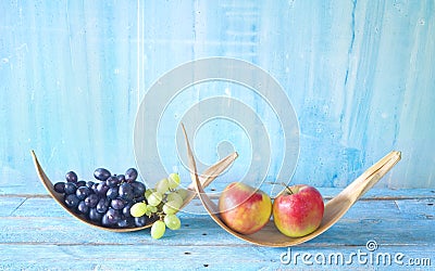
MULTIPOLYGON (((265 2, 1 1, 0 193, 44 193, 30 150, 52 179, 134 166, 134 122, 147 90, 209 56, 253 63, 285 89, 300 126, 295 182, 345 186, 399 150, 402 160, 380 185, 434 188, 435 2, 265 2)), ((162 163, 169 171, 179 166, 177 112, 233 95, 266 125, 273 179, 286 151, 273 111, 254 93, 225 88, 236 87, 206 85, 173 101, 175 115, 159 131, 162 163)), ((237 179, 252 147, 240 127, 206 125, 195 151, 213 163, 222 140, 240 154, 227 175, 237 179)))

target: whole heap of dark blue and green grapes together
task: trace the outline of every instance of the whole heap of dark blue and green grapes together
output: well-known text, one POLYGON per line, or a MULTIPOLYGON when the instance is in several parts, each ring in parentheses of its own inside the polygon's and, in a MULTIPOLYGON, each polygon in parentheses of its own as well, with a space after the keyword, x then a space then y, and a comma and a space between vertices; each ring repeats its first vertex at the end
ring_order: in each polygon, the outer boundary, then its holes
POLYGON ((181 221, 175 214, 183 205, 185 190, 179 177, 172 173, 162 179, 156 189, 147 189, 138 181, 138 172, 129 168, 124 175, 112 175, 105 168, 97 168, 96 180, 78 180, 74 171, 65 175, 65 181, 54 183, 54 191, 63 195, 64 205, 88 222, 104 228, 126 229, 151 227, 151 236, 160 238, 166 227, 177 230, 181 221))

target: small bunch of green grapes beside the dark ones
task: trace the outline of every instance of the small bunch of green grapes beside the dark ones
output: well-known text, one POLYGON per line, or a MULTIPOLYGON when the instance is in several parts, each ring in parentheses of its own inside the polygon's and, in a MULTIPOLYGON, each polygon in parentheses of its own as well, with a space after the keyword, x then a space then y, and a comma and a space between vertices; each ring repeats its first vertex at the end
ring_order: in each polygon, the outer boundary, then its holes
POLYGON ((171 173, 169 178, 156 183, 154 189, 145 191, 145 198, 135 203, 130 208, 130 215, 135 218, 158 216, 152 223, 151 237, 160 238, 164 235, 166 227, 178 230, 182 225, 179 218, 175 215, 186 198, 187 191, 178 189, 179 176, 171 173))

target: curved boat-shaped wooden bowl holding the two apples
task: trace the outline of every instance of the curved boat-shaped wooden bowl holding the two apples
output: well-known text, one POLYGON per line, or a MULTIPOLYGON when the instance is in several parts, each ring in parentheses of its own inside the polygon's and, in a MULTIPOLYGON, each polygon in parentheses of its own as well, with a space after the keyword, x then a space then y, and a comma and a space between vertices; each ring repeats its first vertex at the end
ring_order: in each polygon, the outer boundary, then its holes
MULTIPOLYGON (((368 192, 382 177, 384 177, 385 173, 387 173, 389 169, 391 169, 400 160, 401 157, 400 152, 390 152, 384 158, 370 167, 360 177, 358 177, 338 195, 328 201, 325 204, 322 223, 314 232, 302 237, 288 237, 277 230, 273 220, 270 220, 269 223, 260 231, 250 235, 245 235, 233 231, 221 220, 216 204, 210 199, 203 190, 202 183, 204 181, 200 181, 198 178, 194 154, 190 150, 186 131, 184 132, 186 137, 189 168, 191 172, 190 177, 196 185, 195 188, 199 198, 201 199, 211 218, 220 227, 222 227, 222 229, 234 236, 252 244, 270 247, 288 247, 298 245, 325 232, 327 229, 334 225, 365 192, 368 192)), ((210 177, 210 179, 213 179, 213 177, 210 177)), ((206 182, 210 182, 210 180, 206 180, 206 182)))

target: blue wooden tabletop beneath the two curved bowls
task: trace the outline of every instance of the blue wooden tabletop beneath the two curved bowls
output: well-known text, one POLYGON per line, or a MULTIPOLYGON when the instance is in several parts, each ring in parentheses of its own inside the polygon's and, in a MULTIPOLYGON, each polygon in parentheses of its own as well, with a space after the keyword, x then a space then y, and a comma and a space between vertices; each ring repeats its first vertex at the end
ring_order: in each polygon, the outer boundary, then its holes
MULTIPOLYGON (((327 232, 288 248, 248 244, 207 215, 191 215, 203 212, 199 199, 181 214, 181 230, 156 241, 149 230, 84 224, 39 189, 0 190, 0 270, 435 269, 431 189, 373 189, 327 232)), ((327 201, 340 190, 320 191, 327 201)))

